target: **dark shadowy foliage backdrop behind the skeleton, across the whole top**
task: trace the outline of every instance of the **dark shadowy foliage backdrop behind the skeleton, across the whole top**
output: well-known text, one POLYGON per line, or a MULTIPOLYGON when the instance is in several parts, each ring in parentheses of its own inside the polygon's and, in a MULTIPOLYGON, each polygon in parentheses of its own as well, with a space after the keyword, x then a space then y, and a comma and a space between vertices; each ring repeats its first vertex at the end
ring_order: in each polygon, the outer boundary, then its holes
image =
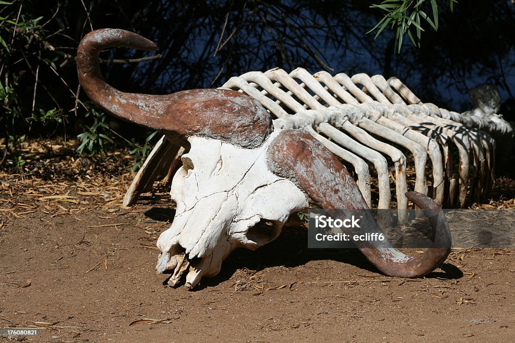
MULTIPOLYGON (((461 102, 470 106, 471 82, 487 79, 514 101, 515 6, 444 3, 449 6, 436 0, 389 0, 372 8, 362 0, 0 0, 0 139, 84 134, 80 153, 103 151, 109 140, 101 135, 113 137, 107 125, 114 120, 96 116, 86 102, 74 56, 86 33, 104 27, 136 31, 160 47, 160 59, 141 63, 118 62, 141 61, 152 53, 122 48, 101 53, 102 75, 124 92, 217 87, 250 70, 302 66, 312 72, 397 76, 424 101, 454 110, 461 102), (365 34, 371 27, 376 39, 365 34), (405 35, 416 46, 403 44, 405 35), (403 53, 394 53, 401 46, 403 53), (87 114, 80 132, 79 119, 87 114)), ((133 132, 116 128, 141 165, 151 141, 133 132)), ((14 156, 18 149, 6 147, 3 163, 7 150, 14 156)))

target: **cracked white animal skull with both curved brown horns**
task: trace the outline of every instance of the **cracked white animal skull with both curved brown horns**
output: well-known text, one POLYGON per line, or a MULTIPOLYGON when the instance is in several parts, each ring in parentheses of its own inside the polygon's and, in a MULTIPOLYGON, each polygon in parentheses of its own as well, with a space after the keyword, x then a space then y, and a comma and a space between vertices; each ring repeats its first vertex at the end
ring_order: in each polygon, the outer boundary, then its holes
MULTIPOLYGON (((170 192, 177 202, 176 217, 158 240, 162 254, 156 269, 174 269, 170 284, 177 284, 185 272, 188 288, 202 276, 216 275, 234 248, 255 249, 277 238, 288 216, 307 209, 308 203, 347 212, 367 208, 354 179, 329 150, 306 130, 274 128, 264 107, 243 93, 194 89, 152 96, 111 87, 101 77, 98 55, 115 46, 156 47, 125 30, 90 32, 77 49, 84 91, 105 111, 163 130, 169 139, 186 138, 182 142, 190 145, 170 192), (262 221, 271 227, 256 227, 262 221)), ((416 192, 406 196, 433 211, 428 215, 435 231, 433 246, 417 257, 404 255, 387 240, 356 246, 387 275, 419 277, 443 263, 451 237, 443 212, 431 198, 416 192)), ((380 232, 371 215, 361 223, 367 232, 380 232)))

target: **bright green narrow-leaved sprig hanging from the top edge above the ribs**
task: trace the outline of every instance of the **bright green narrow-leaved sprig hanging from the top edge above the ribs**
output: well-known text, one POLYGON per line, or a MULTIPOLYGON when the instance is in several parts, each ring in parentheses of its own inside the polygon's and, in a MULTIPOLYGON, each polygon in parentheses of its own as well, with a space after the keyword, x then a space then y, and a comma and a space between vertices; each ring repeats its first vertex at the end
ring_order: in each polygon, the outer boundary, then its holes
MULTIPOLYGON (((427 3, 427 0, 385 0, 379 5, 374 4, 370 6, 371 8, 381 9, 385 11, 386 14, 383 19, 367 33, 377 30, 374 37, 374 39, 376 39, 388 25, 391 25, 392 30, 395 31, 394 48, 397 49, 398 53, 401 52, 402 40, 406 33, 411 43, 420 47, 422 31, 424 31, 421 19, 431 25, 435 31, 438 30, 438 4, 436 0, 428 0, 428 2, 431 4, 432 18, 423 11, 424 3, 427 3), (413 10, 411 10, 411 6, 413 6, 413 10), (413 27, 415 27, 416 39, 411 32, 413 27)), ((451 12, 456 3, 456 0, 449 0, 451 12)))

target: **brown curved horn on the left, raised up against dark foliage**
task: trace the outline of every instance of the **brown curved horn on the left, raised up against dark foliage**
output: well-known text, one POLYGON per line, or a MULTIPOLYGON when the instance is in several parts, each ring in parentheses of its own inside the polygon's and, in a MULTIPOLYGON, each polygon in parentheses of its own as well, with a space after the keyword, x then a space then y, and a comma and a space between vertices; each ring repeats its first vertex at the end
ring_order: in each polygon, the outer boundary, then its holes
POLYGON ((184 136, 206 136, 245 148, 260 146, 272 131, 271 118, 259 102, 229 89, 192 89, 168 95, 124 93, 102 78, 102 49, 155 50, 141 35, 119 29, 88 33, 77 48, 77 71, 85 93, 114 116, 152 129, 184 136))

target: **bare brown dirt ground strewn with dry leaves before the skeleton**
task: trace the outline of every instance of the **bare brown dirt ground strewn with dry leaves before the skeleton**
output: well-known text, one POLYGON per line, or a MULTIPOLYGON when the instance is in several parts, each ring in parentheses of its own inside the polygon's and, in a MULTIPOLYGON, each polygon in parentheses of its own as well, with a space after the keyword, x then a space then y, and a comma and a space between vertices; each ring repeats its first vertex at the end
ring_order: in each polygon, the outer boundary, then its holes
MULTIPOLYGON (((513 249, 453 249, 442 269, 425 278, 390 278, 357 250, 307 249, 307 230, 294 223, 263 248, 236 250, 217 277, 194 291, 171 288, 154 270, 156 240, 174 215, 166 189, 125 208, 131 177, 123 168, 100 172, 92 161, 66 154, 50 165, 45 154, 28 155, 23 175, 0 172, 0 328, 41 328, 39 337, 0 341, 515 336, 513 249)), ((126 166, 126 159, 117 153, 106 160, 126 166)), ((506 194, 485 206, 513 204, 513 193, 506 194)))

